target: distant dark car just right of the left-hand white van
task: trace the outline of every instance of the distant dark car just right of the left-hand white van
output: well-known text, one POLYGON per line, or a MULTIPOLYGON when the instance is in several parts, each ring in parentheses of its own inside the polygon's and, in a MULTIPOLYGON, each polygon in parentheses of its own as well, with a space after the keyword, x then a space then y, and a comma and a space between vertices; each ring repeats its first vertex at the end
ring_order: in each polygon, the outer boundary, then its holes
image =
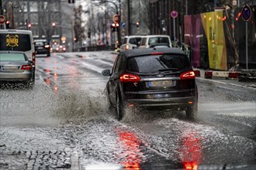
POLYGON ((47 39, 35 39, 36 56, 41 54, 50 56, 50 43, 47 39))

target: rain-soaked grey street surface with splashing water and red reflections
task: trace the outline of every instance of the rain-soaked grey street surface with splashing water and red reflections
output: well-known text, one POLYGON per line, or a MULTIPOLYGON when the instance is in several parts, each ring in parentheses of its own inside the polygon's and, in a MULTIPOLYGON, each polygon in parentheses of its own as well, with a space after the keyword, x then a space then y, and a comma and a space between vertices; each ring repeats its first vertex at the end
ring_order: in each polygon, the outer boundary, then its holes
POLYGON ((115 58, 38 57, 33 89, 2 83, 0 169, 256 168, 253 84, 197 78, 197 121, 181 111, 137 111, 116 121, 101 75, 115 58))

